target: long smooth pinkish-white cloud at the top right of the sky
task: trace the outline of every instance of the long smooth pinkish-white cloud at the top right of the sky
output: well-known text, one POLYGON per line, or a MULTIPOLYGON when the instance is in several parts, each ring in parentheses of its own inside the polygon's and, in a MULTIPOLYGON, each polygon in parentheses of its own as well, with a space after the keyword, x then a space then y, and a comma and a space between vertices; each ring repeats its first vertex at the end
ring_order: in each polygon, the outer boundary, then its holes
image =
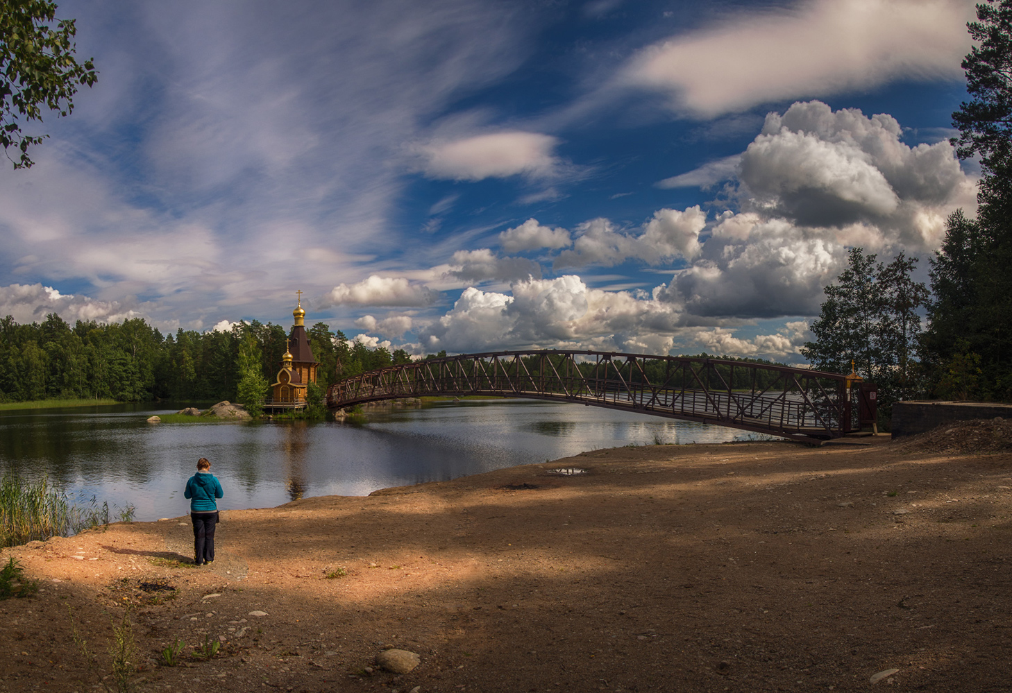
POLYGON ((649 47, 617 78, 701 117, 895 79, 962 79, 965 0, 810 0, 649 47))

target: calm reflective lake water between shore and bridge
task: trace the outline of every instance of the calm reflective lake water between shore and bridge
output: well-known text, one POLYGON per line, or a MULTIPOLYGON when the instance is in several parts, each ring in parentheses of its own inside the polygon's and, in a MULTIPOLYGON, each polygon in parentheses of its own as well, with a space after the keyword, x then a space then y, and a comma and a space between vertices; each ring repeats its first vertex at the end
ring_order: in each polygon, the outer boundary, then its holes
POLYGON ((525 400, 445 402, 372 410, 368 423, 160 424, 176 406, 0 412, 0 469, 49 474, 81 499, 137 506, 137 519, 188 512, 182 497, 196 460, 222 481, 223 510, 301 497, 364 496, 585 450, 637 444, 762 438, 744 431, 525 400))

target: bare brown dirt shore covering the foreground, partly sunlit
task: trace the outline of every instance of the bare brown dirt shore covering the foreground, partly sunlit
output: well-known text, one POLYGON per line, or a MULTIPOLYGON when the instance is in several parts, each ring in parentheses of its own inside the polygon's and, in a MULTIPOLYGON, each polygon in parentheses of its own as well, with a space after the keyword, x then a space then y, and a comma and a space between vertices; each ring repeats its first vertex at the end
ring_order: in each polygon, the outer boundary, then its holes
POLYGON ((185 516, 32 542, 3 552, 41 589, 0 602, 0 690, 101 690, 128 608, 138 691, 1012 690, 1012 454, 938 443, 618 448, 230 511, 206 569, 174 562, 185 516), (157 665, 205 635, 218 658, 157 665), (390 646, 421 664, 368 672, 390 646))

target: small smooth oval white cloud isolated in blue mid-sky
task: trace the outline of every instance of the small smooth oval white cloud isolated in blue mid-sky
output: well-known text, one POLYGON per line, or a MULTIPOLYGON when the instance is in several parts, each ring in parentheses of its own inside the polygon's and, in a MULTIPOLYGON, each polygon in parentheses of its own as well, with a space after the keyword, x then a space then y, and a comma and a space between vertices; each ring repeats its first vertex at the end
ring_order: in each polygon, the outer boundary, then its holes
POLYGON ((562 163, 554 154, 558 144, 550 135, 512 131, 439 140, 418 146, 416 152, 430 178, 477 181, 521 174, 551 178, 562 163))

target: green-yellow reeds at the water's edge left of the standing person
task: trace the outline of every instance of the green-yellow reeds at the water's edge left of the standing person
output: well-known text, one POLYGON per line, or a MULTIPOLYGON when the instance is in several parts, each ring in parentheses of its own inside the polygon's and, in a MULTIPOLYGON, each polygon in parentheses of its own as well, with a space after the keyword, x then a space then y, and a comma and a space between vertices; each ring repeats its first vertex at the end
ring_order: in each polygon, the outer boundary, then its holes
POLYGON ((74 505, 48 478, 26 482, 4 475, 0 482, 0 546, 17 546, 51 536, 70 536, 108 523, 108 505, 74 505))

